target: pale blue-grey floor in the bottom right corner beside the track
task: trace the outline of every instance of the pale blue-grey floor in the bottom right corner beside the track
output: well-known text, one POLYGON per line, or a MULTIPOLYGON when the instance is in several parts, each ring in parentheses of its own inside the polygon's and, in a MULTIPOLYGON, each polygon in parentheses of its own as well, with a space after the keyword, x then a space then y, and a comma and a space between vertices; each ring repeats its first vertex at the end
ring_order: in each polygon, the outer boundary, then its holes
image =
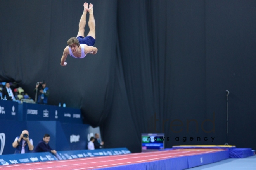
POLYGON ((256 170, 256 155, 247 158, 229 158, 188 170, 256 170))

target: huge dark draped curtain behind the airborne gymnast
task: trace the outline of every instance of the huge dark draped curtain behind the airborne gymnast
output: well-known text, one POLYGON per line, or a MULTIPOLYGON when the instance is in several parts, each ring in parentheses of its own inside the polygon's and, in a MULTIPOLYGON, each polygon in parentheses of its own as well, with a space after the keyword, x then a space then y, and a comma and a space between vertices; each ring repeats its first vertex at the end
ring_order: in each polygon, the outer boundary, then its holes
POLYGON ((0 0, 0 81, 35 99, 45 80, 49 104, 80 108, 105 148, 140 152, 141 133, 256 148, 256 1, 92 0, 98 53, 62 67, 83 3, 0 0))

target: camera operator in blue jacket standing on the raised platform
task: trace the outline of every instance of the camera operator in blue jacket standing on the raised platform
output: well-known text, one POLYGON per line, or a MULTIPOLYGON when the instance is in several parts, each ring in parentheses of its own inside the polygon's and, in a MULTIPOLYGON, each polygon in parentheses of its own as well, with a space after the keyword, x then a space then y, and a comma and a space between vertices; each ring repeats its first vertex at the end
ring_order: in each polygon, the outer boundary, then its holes
POLYGON ((36 95, 37 95, 36 103, 38 103, 38 104, 47 104, 48 103, 48 97, 50 95, 50 90, 48 87, 46 87, 45 81, 37 82, 34 92, 36 92, 36 95))

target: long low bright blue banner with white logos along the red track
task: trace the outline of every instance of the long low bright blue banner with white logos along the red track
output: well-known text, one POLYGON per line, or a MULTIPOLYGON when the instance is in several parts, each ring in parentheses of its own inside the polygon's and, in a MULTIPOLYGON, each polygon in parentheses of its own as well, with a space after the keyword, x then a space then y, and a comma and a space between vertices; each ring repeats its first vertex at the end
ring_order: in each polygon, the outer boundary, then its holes
POLYGON ((12 165, 17 163, 45 162, 53 160, 72 160, 76 158, 87 158, 95 156, 124 155, 131 152, 127 148, 97 149, 97 150, 75 150, 57 151, 57 155, 49 152, 24 153, 0 155, 0 165, 12 165))

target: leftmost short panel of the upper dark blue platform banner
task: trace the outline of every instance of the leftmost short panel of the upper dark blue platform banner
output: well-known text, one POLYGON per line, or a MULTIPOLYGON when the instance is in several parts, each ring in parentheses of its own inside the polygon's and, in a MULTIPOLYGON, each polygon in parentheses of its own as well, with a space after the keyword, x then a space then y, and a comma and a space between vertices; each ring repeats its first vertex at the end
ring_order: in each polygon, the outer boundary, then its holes
POLYGON ((0 119, 19 120, 18 102, 0 100, 0 119))

